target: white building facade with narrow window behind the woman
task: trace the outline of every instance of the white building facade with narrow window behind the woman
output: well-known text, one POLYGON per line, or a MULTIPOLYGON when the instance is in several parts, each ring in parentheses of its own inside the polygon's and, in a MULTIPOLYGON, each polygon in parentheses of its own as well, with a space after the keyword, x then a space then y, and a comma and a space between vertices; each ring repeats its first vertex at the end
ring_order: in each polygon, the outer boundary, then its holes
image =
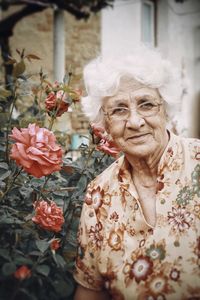
POLYGON ((101 51, 158 47, 180 70, 184 86, 178 131, 200 138, 200 1, 117 0, 102 11, 101 51))

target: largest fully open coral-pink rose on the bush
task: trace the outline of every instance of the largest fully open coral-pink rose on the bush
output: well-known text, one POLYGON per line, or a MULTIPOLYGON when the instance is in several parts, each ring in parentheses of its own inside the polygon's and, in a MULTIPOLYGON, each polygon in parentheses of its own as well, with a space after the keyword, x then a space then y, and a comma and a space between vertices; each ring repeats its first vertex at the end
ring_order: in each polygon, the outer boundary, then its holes
POLYGON ((14 127, 10 137, 16 141, 10 157, 27 173, 40 178, 61 169, 62 149, 48 129, 36 124, 20 130, 14 127))

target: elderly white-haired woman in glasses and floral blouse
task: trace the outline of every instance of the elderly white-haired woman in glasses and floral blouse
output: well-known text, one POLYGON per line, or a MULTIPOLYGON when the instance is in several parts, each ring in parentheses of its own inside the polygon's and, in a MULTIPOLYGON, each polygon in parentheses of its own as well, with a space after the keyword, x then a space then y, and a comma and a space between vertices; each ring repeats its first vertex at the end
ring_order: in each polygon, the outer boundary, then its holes
POLYGON ((156 51, 97 58, 83 109, 123 153, 88 186, 75 300, 200 299, 200 143, 167 118, 179 78, 156 51))

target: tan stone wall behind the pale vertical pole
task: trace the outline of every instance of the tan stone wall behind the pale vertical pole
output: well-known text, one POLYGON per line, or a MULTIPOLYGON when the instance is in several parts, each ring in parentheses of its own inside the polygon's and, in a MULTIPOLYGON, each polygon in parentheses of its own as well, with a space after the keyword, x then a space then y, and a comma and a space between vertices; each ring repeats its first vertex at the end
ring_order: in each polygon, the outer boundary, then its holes
MULTIPOLYGON (((2 18, 12 11, 13 8, 2 12, 2 18)), ((70 64, 76 73, 81 73, 83 65, 100 52, 100 14, 91 16, 87 21, 78 21, 68 12, 64 14, 66 66, 70 64)), ((18 22, 10 39, 10 45, 13 55, 16 55, 16 48, 25 48, 27 53, 34 53, 41 57, 42 66, 52 79, 53 10, 46 9, 18 22)), ((32 70, 38 69, 32 66, 32 70)))

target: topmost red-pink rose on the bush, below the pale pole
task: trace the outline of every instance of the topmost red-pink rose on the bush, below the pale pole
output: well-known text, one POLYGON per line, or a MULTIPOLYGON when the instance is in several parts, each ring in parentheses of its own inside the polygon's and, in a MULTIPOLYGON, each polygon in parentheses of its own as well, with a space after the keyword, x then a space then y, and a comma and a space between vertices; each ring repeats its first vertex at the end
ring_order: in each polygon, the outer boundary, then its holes
POLYGON ((50 92, 45 100, 46 110, 48 112, 57 111, 56 116, 60 117, 64 112, 68 111, 69 103, 66 100, 67 94, 62 90, 50 92))

